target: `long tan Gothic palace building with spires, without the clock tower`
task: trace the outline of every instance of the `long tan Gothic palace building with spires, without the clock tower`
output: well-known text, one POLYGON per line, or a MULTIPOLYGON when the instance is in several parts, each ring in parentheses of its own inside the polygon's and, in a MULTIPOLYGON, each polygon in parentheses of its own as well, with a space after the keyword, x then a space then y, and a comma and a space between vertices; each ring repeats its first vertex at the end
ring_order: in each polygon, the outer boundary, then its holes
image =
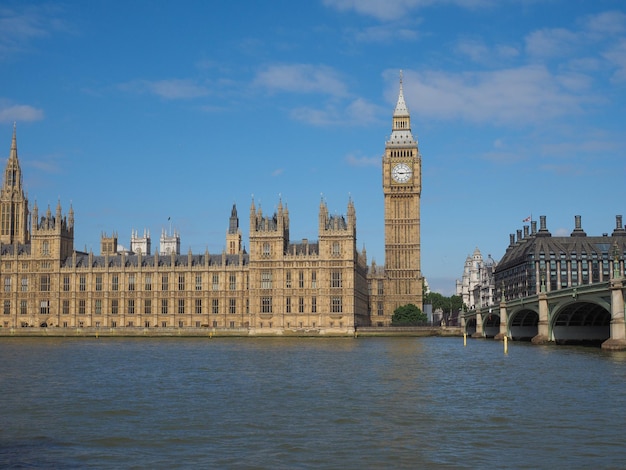
POLYGON ((131 247, 102 234, 101 253, 74 248, 74 213, 30 218, 15 130, 0 194, 0 326, 65 328, 245 328, 350 334, 369 324, 367 261, 356 249, 356 211, 329 215, 320 203, 316 242, 289 240, 282 201, 266 216, 250 208, 250 253, 242 249, 236 207, 220 254, 179 253, 178 233, 161 236, 150 255, 148 233, 131 247), (163 254, 165 250, 165 254, 163 254))

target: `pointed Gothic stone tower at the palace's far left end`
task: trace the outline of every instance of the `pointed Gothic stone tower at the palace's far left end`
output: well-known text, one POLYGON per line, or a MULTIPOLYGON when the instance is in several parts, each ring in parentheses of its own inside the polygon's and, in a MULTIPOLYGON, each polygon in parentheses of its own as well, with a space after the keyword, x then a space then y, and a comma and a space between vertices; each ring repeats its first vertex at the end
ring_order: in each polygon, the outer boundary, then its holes
POLYGON ((0 188, 0 242, 29 242, 28 199, 22 187, 22 170, 17 158, 17 139, 13 124, 11 153, 4 170, 4 181, 0 188))

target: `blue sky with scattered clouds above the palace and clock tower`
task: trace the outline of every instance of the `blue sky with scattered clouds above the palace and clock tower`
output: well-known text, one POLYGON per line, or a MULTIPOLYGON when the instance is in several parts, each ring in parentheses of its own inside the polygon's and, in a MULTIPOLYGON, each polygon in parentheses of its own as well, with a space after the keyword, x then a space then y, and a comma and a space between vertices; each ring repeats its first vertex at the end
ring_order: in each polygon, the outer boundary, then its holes
POLYGON ((532 215, 567 235, 626 216, 626 5, 610 0, 4 1, 0 153, 31 204, 103 232, 221 252, 237 204, 357 211, 384 262, 381 156, 399 70, 422 154, 422 272, 454 292, 532 215))

